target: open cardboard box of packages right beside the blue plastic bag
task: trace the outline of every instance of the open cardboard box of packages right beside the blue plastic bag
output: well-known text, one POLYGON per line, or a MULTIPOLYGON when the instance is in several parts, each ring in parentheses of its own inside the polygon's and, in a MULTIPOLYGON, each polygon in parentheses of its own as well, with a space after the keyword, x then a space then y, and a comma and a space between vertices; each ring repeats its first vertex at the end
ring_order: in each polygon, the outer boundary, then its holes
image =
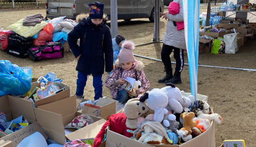
MULTIPOLYGON (((48 81, 48 84, 51 83, 48 81)), ((34 82, 31 85, 31 89, 29 91, 33 91, 35 89, 35 87, 40 87, 41 82, 37 83, 34 82)), ((50 102, 54 102, 54 101, 58 101, 60 99, 64 99, 64 98, 68 98, 70 96, 70 87, 68 85, 62 84, 62 83, 55 83, 59 86, 59 88, 64 88, 64 91, 61 91, 60 93, 57 93, 56 95, 53 96, 49 96, 48 98, 44 98, 44 99, 40 99, 38 101, 35 101, 35 107, 37 108, 38 106, 44 105, 44 104, 48 104, 50 102)), ((23 98, 23 99, 27 99, 27 97, 23 98)))

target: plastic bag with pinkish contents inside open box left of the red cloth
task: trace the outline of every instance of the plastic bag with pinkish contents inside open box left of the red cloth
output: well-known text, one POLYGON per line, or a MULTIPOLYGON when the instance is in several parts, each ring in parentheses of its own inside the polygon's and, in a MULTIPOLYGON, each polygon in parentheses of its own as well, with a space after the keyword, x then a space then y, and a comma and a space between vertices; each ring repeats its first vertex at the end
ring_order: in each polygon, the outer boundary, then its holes
POLYGON ((92 123, 94 121, 89 115, 81 114, 75 117, 66 127, 85 127, 92 123))

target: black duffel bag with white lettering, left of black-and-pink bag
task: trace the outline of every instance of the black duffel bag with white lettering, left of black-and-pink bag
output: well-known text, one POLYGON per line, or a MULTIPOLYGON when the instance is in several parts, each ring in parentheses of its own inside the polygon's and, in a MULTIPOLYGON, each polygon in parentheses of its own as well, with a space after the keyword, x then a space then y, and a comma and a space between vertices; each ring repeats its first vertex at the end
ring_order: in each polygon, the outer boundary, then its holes
POLYGON ((27 50, 31 46, 32 46, 31 37, 26 38, 18 34, 10 34, 6 51, 7 51, 7 54, 24 59, 29 57, 27 50))

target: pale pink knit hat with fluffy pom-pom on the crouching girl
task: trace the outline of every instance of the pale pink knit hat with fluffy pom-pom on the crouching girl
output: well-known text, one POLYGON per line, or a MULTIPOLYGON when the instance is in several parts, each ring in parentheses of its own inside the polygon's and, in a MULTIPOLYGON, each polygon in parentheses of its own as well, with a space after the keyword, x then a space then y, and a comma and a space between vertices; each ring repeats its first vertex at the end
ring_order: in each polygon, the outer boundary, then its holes
POLYGON ((134 49, 133 41, 125 41, 122 44, 122 49, 119 52, 119 63, 127 63, 127 62, 134 62, 135 58, 133 56, 133 49, 134 49))

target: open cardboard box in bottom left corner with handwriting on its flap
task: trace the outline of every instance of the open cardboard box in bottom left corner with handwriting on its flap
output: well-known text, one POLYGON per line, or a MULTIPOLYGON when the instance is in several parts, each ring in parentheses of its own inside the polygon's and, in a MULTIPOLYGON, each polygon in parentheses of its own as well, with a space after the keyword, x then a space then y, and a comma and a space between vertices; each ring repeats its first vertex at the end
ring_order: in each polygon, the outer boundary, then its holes
POLYGON ((11 121, 23 115, 24 120, 32 123, 23 129, 0 138, 0 140, 10 140, 14 146, 17 146, 23 140, 23 138, 33 134, 34 132, 40 132, 43 137, 47 139, 47 136, 45 135, 45 132, 43 132, 42 127, 40 127, 40 125, 35 122, 34 106, 31 101, 18 99, 10 95, 1 96, 0 110, 5 113, 7 121, 11 121))

